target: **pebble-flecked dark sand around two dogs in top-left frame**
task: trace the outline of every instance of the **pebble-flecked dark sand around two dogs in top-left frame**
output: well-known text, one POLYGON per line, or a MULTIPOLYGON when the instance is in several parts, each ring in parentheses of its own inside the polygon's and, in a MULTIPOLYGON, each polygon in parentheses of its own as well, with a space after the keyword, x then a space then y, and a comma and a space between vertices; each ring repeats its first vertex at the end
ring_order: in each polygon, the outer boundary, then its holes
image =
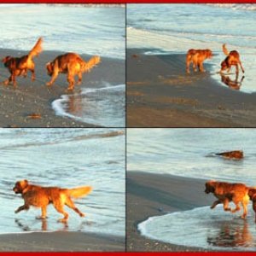
MULTIPOLYGON (((21 56, 26 55, 13 49, 0 49, 0 57, 6 55, 21 56)), ((60 74, 52 87, 46 86, 50 77, 46 73, 45 64, 61 55, 59 51, 44 51, 35 57, 36 80, 32 82, 31 73, 27 78, 18 77, 17 87, 12 84, 5 86, 2 82, 9 78, 9 71, 0 64, 0 127, 95 127, 95 125, 79 122, 67 117, 56 116, 51 108, 51 103, 61 95, 78 93, 81 87, 90 84, 107 81, 113 84, 125 84, 125 61, 110 58, 102 58, 102 62, 94 67, 90 73, 84 73, 83 82, 76 86, 73 92, 67 92, 67 74, 60 74), (32 118, 32 113, 36 113, 38 118, 32 118)), ((90 55, 81 55, 85 61, 90 59, 90 55)), ((73 108, 72 102, 69 108, 73 108)), ((36 116, 37 117, 37 116, 36 116)), ((97 126, 99 127, 99 126, 97 126)))

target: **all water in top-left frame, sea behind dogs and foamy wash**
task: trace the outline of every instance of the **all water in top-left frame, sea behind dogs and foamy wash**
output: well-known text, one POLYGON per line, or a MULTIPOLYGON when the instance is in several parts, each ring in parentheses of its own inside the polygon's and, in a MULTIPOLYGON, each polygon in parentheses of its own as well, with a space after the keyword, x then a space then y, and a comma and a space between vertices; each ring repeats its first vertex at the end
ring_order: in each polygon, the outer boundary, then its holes
MULTIPOLYGON (((1 21, 0 48, 30 50, 43 37, 44 50, 125 61, 122 5, 0 4, 0 15, 5 17, 1 21)), ((87 83, 86 89, 57 99, 55 113, 91 125, 125 127, 125 86, 118 85, 98 78, 87 83)))

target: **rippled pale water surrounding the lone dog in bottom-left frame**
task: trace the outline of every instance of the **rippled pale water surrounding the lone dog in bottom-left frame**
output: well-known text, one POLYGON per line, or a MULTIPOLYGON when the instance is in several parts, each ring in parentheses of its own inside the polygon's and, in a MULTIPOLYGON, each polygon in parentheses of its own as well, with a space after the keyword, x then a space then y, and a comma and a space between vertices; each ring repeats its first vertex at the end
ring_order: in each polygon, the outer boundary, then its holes
POLYGON ((123 129, 0 129, 0 233, 81 231, 125 236, 125 131, 123 129), (67 225, 52 205, 15 214, 23 205, 12 190, 28 179, 43 186, 90 185, 90 195, 74 200, 85 218, 65 207, 67 225))

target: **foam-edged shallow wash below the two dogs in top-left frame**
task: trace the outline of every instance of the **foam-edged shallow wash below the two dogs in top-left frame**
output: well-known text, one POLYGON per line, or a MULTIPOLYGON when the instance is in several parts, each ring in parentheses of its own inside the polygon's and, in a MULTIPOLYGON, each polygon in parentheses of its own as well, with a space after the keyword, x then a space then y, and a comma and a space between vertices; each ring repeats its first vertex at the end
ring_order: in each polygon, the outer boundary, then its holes
POLYGON ((57 115, 87 124, 125 127, 125 84, 104 85, 61 96, 61 99, 52 102, 52 108, 57 115))

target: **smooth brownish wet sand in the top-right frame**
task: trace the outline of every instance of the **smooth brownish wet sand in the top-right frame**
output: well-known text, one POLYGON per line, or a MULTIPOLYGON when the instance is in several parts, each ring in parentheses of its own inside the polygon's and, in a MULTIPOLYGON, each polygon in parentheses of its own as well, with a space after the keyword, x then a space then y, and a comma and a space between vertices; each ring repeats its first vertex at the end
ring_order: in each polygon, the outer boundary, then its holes
POLYGON ((186 74, 185 55, 145 50, 127 50, 128 127, 255 127, 256 93, 222 86, 209 72, 186 74))

